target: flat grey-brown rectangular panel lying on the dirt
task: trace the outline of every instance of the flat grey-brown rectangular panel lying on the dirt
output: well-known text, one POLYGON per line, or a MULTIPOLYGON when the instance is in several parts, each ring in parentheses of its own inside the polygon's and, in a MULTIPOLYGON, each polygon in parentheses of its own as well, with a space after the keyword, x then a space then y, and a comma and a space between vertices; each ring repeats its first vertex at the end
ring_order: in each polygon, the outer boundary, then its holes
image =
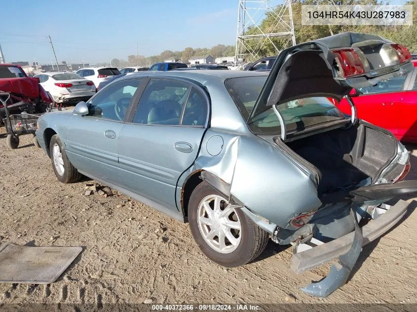
POLYGON ((0 247, 0 282, 50 284, 81 251, 82 247, 30 247, 7 243, 0 247))

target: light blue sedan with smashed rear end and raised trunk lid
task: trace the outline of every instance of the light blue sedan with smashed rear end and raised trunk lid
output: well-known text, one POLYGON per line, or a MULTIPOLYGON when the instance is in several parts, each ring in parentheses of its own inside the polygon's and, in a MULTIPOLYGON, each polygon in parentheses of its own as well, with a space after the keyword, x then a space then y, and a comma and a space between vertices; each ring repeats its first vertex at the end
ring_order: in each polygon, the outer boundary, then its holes
POLYGON ((407 150, 356 118, 349 91, 412 69, 405 47, 345 33, 282 51, 269 75, 126 75, 73 113, 41 116, 36 135, 58 180, 84 174, 188 221, 202 252, 221 265, 252 261, 269 238, 295 246, 298 273, 339 257, 327 278, 303 289, 326 297, 362 245, 408 207, 384 203, 417 192, 417 181, 402 181, 407 150), (351 116, 327 99, 344 96, 351 116), (360 228, 362 218, 375 220, 360 228))

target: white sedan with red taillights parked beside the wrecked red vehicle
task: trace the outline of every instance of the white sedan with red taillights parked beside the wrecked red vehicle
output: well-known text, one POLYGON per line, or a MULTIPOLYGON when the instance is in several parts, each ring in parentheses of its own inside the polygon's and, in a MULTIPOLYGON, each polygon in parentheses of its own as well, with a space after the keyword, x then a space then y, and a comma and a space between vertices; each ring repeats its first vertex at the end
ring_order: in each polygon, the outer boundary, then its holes
POLYGON ((56 103, 87 101, 96 93, 96 86, 74 72, 44 72, 34 77, 56 103))

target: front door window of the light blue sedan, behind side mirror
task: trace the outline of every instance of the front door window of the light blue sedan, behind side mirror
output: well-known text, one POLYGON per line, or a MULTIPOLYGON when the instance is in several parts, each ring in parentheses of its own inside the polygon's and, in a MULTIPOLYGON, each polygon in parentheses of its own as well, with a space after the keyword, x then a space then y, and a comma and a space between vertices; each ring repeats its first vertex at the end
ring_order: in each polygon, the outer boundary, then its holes
POLYGON ((88 105, 88 116, 122 121, 142 79, 122 80, 100 91, 88 105))

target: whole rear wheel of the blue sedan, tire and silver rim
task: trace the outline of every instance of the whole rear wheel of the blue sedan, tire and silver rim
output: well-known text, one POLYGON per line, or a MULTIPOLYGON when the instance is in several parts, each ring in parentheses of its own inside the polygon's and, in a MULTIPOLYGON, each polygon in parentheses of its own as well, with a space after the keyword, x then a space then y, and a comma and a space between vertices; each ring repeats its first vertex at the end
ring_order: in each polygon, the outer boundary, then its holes
POLYGON ((238 267, 257 258, 269 234, 239 208, 228 207, 227 199, 207 182, 200 183, 189 202, 192 236, 201 251, 225 267, 238 267))

